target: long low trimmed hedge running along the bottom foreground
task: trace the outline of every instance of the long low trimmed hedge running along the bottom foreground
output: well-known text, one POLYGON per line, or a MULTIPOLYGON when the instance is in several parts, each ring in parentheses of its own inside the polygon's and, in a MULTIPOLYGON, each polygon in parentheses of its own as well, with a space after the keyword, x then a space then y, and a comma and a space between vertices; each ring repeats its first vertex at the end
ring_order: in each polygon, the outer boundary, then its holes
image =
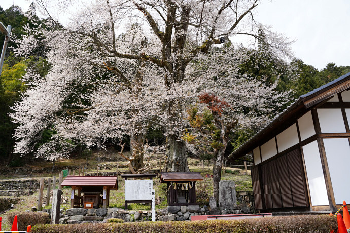
POLYGON ((134 222, 37 225, 32 233, 200 233, 200 232, 336 232, 337 219, 329 215, 297 215, 283 217, 264 217, 242 220, 172 221, 172 222, 134 222), (334 230, 334 231, 333 231, 334 230))

